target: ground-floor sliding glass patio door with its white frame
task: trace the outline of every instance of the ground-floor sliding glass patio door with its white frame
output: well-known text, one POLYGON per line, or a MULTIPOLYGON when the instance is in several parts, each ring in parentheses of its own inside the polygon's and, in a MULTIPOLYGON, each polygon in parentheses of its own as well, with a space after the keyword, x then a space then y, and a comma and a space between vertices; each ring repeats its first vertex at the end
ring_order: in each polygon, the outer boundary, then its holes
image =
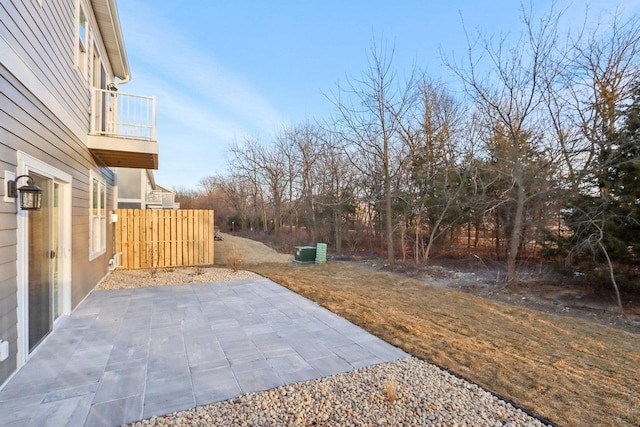
POLYGON ((21 151, 17 162, 16 175, 30 176, 42 190, 39 210, 17 207, 16 361, 21 367, 71 313, 73 177, 21 151))

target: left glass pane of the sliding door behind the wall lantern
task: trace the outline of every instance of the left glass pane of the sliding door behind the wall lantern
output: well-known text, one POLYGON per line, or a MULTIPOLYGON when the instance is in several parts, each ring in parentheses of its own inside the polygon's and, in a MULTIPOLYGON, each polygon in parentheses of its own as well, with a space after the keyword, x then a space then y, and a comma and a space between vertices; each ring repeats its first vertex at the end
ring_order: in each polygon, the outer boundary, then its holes
POLYGON ((51 330, 51 180, 34 173, 42 208, 29 211, 29 351, 51 330))

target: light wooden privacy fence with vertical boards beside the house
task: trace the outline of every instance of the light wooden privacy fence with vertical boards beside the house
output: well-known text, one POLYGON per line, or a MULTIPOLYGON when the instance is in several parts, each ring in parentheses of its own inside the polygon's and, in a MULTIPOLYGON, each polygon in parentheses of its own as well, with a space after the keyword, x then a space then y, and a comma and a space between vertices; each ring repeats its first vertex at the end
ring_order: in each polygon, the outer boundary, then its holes
POLYGON ((213 211, 116 209, 116 253, 125 269, 213 264, 213 211))

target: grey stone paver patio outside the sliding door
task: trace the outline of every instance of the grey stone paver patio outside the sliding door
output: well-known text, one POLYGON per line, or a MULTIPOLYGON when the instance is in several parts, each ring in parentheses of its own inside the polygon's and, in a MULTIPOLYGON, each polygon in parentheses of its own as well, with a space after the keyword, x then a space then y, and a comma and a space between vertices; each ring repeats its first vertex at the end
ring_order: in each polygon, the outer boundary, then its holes
POLYGON ((94 291, 0 391, 0 424, 116 426, 407 356, 268 279, 94 291))

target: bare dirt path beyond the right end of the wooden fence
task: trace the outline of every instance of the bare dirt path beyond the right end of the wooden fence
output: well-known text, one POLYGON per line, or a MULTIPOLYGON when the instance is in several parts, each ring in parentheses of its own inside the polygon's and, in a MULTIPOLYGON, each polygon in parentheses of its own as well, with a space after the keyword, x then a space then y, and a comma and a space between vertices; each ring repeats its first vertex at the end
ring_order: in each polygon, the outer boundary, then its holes
POLYGON ((293 255, 286 255, 276 252, 264 243, 255 240, 245 239, 243 237, 231 234, 220 233, 224 240, 216 240, 215 247, 215 264, 226 265, 227 257, 237 251, 242 262, 248 264, 262 263, 287 263, 291 262, 293 255))

